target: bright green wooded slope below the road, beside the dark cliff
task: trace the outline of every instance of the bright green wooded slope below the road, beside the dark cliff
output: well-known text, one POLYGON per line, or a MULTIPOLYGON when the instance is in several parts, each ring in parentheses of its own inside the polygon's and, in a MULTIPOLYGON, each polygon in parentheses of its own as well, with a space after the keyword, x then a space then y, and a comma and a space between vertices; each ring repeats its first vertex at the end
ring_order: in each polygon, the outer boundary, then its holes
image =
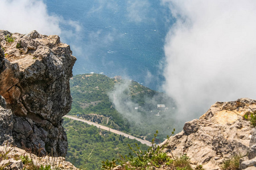
POLYGON ((66 160, 78 168, 100 169, 102 160, 118 159, 119 155, 129 154, 129 143, 133 147, 137 143, 142 151, 148 148, 138 141, 98 129, 84 122, 64 118, 63 126, 69 143, 66 160))

